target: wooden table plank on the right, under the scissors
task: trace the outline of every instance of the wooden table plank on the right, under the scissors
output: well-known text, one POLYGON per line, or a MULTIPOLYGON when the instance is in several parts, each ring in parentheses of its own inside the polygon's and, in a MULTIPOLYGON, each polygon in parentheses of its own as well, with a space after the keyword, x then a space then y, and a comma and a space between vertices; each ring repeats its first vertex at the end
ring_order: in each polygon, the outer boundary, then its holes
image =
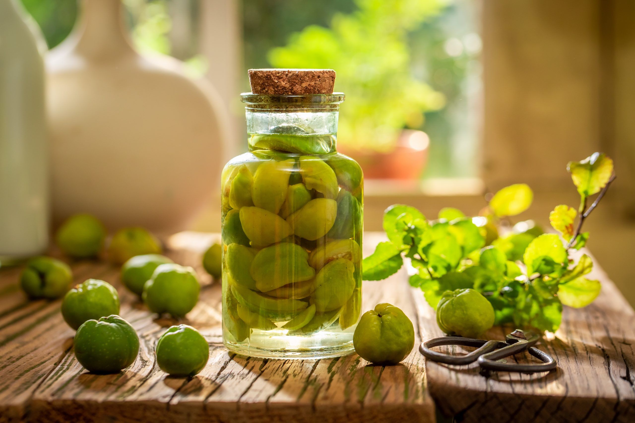
MULTIPOLYGON (((602 282, 598 299, 584 309, 565 307, 558 332, 537 346, 558 360, 556 371, 500 372, 486 378, 475 365, 450 367, 426 360, 428 387, 439 411, 462 422, 635 421, 635 313, 597 263, 590 278, 602 282)), ((443 335, 422 295, 413 292, 413 297, 422 337, 443 335)), ((486 336, 503 340, 512 329, 494 328, 486 336)), ((533 360, 526 353, 514 359, 533 360)))

